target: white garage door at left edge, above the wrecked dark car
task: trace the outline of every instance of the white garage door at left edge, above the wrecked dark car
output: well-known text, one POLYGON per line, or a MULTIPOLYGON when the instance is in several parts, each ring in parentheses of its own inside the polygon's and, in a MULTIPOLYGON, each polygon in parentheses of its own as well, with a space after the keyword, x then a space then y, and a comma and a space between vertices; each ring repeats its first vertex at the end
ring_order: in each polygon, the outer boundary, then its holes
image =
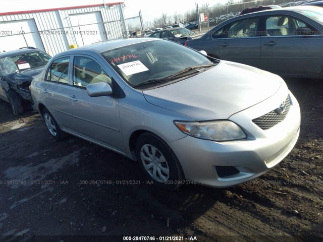
POLYGON ((44 50, 34 19, 0 22, 0 51, 32 46, 44 50), (23 35, 22 32, 25 34, 23 35), (33 32, 33 33, 31 33, 33 32))

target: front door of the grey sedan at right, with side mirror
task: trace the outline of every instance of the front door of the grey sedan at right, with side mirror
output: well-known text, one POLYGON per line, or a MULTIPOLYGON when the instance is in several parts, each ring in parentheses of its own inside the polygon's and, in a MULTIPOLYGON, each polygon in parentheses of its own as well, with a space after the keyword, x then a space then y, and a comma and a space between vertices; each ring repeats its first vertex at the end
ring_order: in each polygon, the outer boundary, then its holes
POLYGON ((261 37, 261 69, 276 74, 320 75, 323 35, 306 21, 291 15, 264 16, 266 36, 261 37), (313 35, 302 35, 300 28, 313 35))

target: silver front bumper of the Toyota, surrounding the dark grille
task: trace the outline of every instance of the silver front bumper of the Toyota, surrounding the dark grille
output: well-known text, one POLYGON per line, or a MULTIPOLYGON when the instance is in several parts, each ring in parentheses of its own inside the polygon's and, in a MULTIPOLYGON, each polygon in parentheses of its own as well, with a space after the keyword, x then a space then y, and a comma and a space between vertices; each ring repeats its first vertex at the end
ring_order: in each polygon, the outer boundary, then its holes
MULTIPOLYGON (((281 162, 296 144, 300 129, 299 105, 295 97, 289 95, 291 107, 286 118, 271 129, 261 130, 251 121, 259 116, 260 110, 272 108, 271 98, 229 118, 244 129, 247 139, 213 142, 187 136, 169 143, 185 178, 205 186, 225 188, 256 178, 281 162), (217 166, 234 167, 238 172, 219 175, 217 166)), ((277 106, 271 110, 274 107, 277 106)))

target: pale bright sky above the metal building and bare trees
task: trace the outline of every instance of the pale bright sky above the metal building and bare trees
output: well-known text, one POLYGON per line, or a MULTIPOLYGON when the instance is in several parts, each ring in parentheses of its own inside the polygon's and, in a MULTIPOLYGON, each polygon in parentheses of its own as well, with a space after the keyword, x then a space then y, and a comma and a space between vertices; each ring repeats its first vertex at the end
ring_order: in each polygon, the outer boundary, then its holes
MULTIPOLYGON (((213 6, 217 3, 226 3, 227 0, 163 0, 163 1, 149 1, 149 0, 104 0, 107 3, 124 2, 126 9, 124 10, 125 18, 138 16, 141 10, 143 21, 152 21, 158 18, 161 14, 168 15, 184 14, 185 12, 195 9, 195 3, 199 6, 208 3, 213 6)), ((39 0, 1 0, 0 13, 17 12, 38 9, 63 8, 82 5, 103 4, 103 0, 55 0, 55 1, 39 1, 39 0)))

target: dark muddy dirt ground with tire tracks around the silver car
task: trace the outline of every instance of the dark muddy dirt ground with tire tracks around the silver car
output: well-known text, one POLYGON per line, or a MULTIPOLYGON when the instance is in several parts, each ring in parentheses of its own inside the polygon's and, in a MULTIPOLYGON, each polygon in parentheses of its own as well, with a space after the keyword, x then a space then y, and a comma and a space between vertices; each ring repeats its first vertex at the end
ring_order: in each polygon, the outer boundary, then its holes
POLYGON ((0 241, 322 241, 323 82, 286 82, 302 112, 295 148, 229 189, 160 191, 136 162, 72 136, 55 142, 38 113, 0 103, 0 241))

